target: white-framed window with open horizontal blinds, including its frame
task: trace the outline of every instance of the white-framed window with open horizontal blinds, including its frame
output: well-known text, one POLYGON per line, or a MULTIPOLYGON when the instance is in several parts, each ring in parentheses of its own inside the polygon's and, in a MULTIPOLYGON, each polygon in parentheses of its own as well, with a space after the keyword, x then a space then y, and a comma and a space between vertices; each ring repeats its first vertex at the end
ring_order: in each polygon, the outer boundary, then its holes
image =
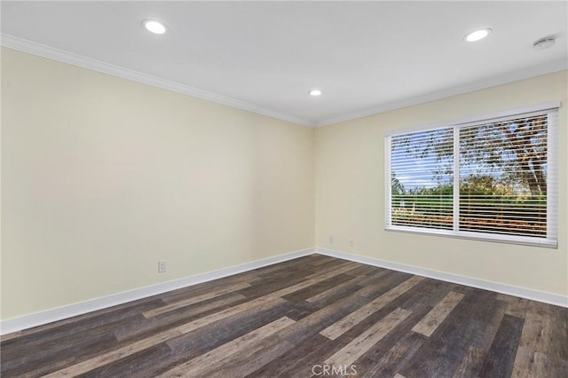
POLYGON ((386 225, 556 248, 559 104, 386 137, 386 225))

